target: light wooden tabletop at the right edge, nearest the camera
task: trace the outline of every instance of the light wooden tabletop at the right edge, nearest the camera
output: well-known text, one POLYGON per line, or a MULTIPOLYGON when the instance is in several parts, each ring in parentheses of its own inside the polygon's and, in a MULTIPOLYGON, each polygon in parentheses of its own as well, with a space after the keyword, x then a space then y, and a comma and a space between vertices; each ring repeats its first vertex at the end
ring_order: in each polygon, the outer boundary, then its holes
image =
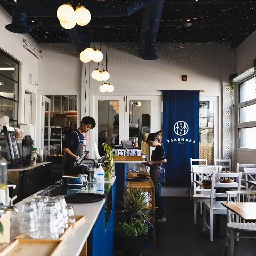
POLYGON ((245 221, 256 221, 256 203, 222 203, 245 221))

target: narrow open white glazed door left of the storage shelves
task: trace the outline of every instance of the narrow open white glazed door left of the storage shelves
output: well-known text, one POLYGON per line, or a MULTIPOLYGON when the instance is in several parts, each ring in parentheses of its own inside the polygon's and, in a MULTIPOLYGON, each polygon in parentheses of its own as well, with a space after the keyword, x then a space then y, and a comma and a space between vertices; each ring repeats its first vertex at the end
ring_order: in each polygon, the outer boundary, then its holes
POLYGON ((51 100, 46 96, 42 96, 41 101, 41 148, 47 148, 50 151, 51 100))

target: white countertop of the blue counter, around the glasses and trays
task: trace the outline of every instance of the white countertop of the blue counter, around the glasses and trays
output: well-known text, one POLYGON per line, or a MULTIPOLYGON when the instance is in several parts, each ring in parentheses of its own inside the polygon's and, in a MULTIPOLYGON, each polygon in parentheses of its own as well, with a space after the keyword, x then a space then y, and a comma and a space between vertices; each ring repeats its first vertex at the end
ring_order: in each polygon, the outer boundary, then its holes
MULTIPOLYGON (((111 181, 105 181, 105 183, 114 183, 115 179, 111 181)), ((15 206, 19 209, 18 213, 12 212, 12 223, 11 223, 11 241, 19 235, 19 225, 20 225, 20 213, 22 209, 22 203, 29 201, 31 197, 36 197, 32 195, 21 202, 17 203, 15 206)), ((69 204, 70 205, 70 204, 69 204)), ((65 235, 64 241, 60 244, 58 251, 54 255, 61 256, 79 256, 83 246, 93 228, 97 217, 105 205, 105 199, 90 204, 72 204, 75 215, 85 215, 84 223, 81 225, 74 225, 72 231, 65 235)))

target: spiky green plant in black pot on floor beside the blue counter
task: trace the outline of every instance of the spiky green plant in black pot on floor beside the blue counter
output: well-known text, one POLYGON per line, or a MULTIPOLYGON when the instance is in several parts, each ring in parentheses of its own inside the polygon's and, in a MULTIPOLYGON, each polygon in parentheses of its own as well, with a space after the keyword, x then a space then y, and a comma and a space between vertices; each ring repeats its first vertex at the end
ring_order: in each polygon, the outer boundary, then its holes
POLYGON ((127 188, 124 194, 124 207, 118 211, 122 221, 116 224, 115 233, 122 253, 126 256, 139 256, 148 233, 145 221, 149 222, 149 215, 143 210, 147 205, 147 195, 143 188, 127 188))

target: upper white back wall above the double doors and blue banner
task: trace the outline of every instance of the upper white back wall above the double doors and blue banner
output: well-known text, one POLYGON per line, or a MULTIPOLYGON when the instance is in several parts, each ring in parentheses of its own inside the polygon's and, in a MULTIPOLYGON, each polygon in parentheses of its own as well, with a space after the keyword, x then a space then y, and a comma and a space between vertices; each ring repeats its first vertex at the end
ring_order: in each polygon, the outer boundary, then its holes
MULTIPOLYGON (((105 56, 104 47, 102 51, 105 56)), ((221 91, 233 71, 233 52, 226 43, 158 43, 160 59, 155 61, 143 60, 137 52, 138 43, 111 44, 108 71, 114 92, 160 89, 221 91), (188 81, 182 81, 182 75, 187 75, 188 81)), ((96 68, 97 64, 90 62, 90 73, 96 68)), ((99 94, 100 85, 101 82, 91 79, 90 91, 99 94)))

